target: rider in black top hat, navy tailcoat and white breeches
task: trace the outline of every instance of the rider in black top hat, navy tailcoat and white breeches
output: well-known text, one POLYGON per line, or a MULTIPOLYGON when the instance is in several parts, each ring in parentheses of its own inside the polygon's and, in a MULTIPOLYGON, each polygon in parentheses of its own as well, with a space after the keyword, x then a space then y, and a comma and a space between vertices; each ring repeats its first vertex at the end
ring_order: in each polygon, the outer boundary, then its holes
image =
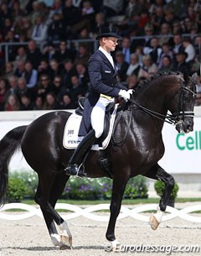
POLYGON ((126 91, 126 87, 117 81, 116 65, 111 56, 120 38, 114 27, 101 28, 96 37, 100 47, 88 61, 90 93, 85 100, 79 131, 79 135, 85 137, 71 156, 65 169, 66 175, 85 176, 80 164, 95 140, 103 133, 106 106, 114 102, 116 97, 122 97, 125 101, 130 99, 132 90, 126 91))

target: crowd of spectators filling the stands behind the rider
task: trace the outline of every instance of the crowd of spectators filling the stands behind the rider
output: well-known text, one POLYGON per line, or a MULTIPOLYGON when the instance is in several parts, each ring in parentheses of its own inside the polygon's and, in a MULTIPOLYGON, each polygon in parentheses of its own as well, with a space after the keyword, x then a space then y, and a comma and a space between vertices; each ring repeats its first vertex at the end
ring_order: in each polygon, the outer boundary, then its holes
POLYGON ((198 0, 0 0, 0 44, 9 43, 8 61, 0 48, 0 111, 77 107, 90 88, 95 35, 111 25, 122 37, 114 58, 127 88, 157 72, 199 71, 198 0))

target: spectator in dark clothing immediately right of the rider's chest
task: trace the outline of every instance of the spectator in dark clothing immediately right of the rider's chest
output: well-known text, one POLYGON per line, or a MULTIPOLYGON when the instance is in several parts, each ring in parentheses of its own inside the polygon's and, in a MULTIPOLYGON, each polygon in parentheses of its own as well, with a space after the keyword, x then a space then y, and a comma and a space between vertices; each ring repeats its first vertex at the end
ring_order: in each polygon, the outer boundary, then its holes
POLYGON ((128 69, 129 64, 124 60, 124 54, 122 53, 121 50, 116 51, 115 60, 116 60, 118 77, 120 78, 121 82, 125 82, 126 71, 128 69))

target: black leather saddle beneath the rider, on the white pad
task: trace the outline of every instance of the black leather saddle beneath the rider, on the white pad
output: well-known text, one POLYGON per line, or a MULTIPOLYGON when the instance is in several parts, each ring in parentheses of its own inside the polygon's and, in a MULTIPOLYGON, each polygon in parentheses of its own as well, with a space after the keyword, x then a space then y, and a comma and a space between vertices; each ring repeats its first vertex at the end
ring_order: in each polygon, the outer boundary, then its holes
MULTIPOLYGON (((99 139, 100 142, 102 142, 106 138, 106 136, 109 132, 111 114, 114 111, 115 105, 116 105, 115 102, 111 102, 106 107, 106 115, 105 115, 105 121, 104 121, 104 131, 101 135, 101 138, 99 139)), ((85 106, 85 97, 80 97, 80 99, 78 101, 78 107, 75 109, 75 113, 79 116, 82 116, 83 111, 84 111, 84 106, 85 106)))

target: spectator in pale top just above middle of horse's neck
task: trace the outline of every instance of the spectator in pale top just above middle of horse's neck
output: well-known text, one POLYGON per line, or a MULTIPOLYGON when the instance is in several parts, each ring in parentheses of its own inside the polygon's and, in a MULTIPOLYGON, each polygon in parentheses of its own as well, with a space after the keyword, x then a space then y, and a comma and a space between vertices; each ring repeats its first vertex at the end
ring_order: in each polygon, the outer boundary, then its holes
POLYGON ((146 79, 157 73, 157 65, 152 63, 150 55, 144 55, 142 58, 142 67, 138 73, 138 79, 145 77, 146 79))

